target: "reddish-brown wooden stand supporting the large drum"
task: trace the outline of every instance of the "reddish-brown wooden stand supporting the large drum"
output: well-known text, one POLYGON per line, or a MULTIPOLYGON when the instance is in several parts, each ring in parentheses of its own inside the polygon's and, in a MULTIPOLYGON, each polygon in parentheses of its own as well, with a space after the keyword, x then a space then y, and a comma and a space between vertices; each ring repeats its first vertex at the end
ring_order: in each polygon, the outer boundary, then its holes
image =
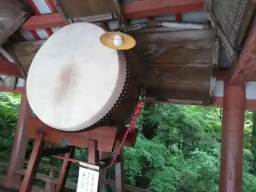
MULTIPOLYGON (((24 176, 20 192, 30 192, 35 180, 36 171, 39 162, 44 156, 53 156, 58 154, 66 154, 65 158, 73 158, 75 146, 88 148, 88 163, 95 164, 101 159, 105 159, 117 148, 126 131, 125 127, 118 128, 110 126, 99 126, 93 130, 80 133, 61 132, 44 124, 36 117, 30 117, 27 125, 27 137, 35 139, 34 147, 30 156, 29 164, 24 176), (45 148, 46 142, 66 144, 65 147, 45 148), (97 152, 101 152, 101 157, 97 152), (103 155, 103 156, 102 156, 103 155)), ((134 146, 137 138, 137 132, 129 134, 124 145, 134 146)), ((122 177, 122 160, 118 158, 116 161, 116 191, 123 192, 123 177, 122 177), (118 162, 118 163, 117 163, 118 162)), ((104 162, 104 161, 102 161, 104 162)), ((105 161, 106 164, 109 162, 105 161)), ((71 162, 64 160, 56 182, 55 191, 63 191, 68 178, 71 162)), ((103 179, 105 179, 106 167, 100 169, 98 191, 103 190, 103 179)))

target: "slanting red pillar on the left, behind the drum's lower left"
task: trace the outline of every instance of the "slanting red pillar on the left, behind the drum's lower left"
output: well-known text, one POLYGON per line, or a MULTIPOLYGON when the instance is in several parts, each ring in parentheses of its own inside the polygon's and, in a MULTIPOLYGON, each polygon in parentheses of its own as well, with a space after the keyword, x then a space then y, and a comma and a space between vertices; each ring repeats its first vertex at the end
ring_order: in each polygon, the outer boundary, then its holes
POLYGON ((14 135, 14 141, 12 145, 12 152, 10 163, 7 172, 7 178, 5 182, 6 187, 12 187, 15 183, 20 181, 20 175, 17 174, 17 170, 21 168, 23 164, 20 160, 24 159, 27 147, 26 138, 26 123, 28 117, 31 115, 32 111, 30 109, 26 88, 22 96, 22 101, 20 103, 19 115, 17 127, 14 135))

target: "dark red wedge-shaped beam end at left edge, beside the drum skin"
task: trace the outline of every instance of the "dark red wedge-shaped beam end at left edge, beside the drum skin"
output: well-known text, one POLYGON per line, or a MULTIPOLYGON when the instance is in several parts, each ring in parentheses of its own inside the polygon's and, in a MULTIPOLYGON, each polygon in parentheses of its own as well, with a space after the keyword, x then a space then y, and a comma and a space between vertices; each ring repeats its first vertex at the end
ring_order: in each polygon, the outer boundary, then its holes
POLYGON ((1 53, 0 53, 0 74, 22 78, 22 74, 20 74, 18 67, 15 65, 15 63, 12 63, 7 59, 5 59, 1 53))

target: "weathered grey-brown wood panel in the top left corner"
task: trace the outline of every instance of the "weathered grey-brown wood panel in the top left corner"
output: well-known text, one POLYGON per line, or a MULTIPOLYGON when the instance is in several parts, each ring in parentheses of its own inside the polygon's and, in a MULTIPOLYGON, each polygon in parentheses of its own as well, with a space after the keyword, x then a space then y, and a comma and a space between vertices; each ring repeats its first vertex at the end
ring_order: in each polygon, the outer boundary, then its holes
POLYGON ((0 46, 32 14, 32 9, 25 2, 0 0, 0 46))

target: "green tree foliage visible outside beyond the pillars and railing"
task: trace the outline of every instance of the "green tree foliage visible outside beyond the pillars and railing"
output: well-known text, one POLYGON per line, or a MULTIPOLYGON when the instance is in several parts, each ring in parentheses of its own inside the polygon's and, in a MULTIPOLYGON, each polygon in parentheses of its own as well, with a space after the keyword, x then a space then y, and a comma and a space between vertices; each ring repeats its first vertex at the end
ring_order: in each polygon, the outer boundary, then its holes
MULTIPOLYGON (((20 95, 0 93, 0 149, 10 152, 20 95)), ((245 113, 243 191, 256 192, 254 153, 251 151, 252 112, 245 113)), ((219 191, 222 109, 202 106, 147 103, 138 117, 139 135, 134 148, 124 147, 125 183, 154 192, 219 191), (146 139, 142 129, 156 127, 156 136, 146 139)), ((30 146, 31 147, 31 146, 30 146)), ((86 160, 87 150, 77 148, 75 158, 86 160)), ((60 166, 62 161, 42 162, 60 166)), ((72 165, 71 172, 78 170, 72 165)), ((39 169, 49 174, 48 169, 39 169)), ((114 170, 108 170, 114 178, 114 170)), ((56 175, 57 176, 57 175, 56 175)), ((70 180, 77 181, 71 174, 70 180)), ((109 192, 114 191, 108 188, 109 192)))

